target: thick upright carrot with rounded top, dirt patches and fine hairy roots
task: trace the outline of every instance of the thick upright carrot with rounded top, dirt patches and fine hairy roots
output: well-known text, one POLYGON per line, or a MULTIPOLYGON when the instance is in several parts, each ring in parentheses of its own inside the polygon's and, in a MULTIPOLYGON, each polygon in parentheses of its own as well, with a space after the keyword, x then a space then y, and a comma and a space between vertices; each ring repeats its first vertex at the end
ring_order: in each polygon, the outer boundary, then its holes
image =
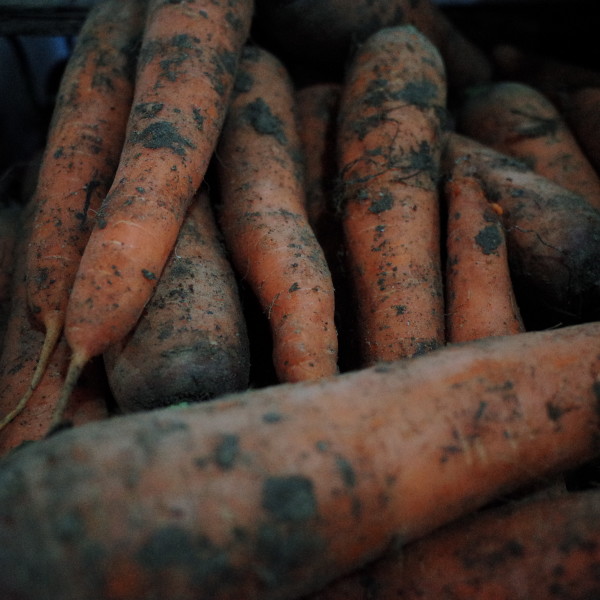
POLYGON ((438 179, 446 83, 412 26, 360 46, 338 117, 339 199, 362 365, 444 342, 438 179))

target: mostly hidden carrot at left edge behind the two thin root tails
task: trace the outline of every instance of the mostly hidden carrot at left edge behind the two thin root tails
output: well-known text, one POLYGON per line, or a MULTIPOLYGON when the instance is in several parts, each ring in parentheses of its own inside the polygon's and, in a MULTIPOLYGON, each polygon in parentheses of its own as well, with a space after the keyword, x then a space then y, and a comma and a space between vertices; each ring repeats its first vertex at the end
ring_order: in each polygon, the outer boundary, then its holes
MULTIPOLYGON (((50 427, 56 396, 69 362, 69 348, 61 339, 54 347, 35 389, 32 374, 44 345, 44 333, 31 322, 27 306, 26 248, 31 235, 32 206, 24 209, 23 225, 15 248, 15 271, 11 286, 4 348, 0 355, 0 456, 26 441, 43 438, 50 427)), ((91 363, 73 392, 65 412, 65 424, 82 425, 107 417, 107 395, 100 365, 91 363)))

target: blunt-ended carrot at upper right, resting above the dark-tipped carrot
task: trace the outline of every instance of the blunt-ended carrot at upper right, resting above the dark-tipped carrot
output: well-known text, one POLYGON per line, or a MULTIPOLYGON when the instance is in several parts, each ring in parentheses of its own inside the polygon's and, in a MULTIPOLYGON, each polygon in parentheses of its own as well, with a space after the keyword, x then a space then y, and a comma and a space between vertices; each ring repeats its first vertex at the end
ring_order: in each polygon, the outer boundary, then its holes
POLYGON ((502 81, 471 88, 457 130, 525 162, 600 208, 600 175, 558 108, 530 85, 502 81))

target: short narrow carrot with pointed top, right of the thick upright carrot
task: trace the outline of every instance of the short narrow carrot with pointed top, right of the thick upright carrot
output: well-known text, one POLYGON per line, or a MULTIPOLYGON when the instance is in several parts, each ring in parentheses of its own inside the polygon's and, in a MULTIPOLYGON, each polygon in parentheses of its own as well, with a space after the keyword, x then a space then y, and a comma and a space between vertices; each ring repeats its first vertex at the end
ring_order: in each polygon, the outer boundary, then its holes
POLYGON ((444 183, 446 340, 521 333, 500 216, 476 175, 462 164, 453 166, 444 183))

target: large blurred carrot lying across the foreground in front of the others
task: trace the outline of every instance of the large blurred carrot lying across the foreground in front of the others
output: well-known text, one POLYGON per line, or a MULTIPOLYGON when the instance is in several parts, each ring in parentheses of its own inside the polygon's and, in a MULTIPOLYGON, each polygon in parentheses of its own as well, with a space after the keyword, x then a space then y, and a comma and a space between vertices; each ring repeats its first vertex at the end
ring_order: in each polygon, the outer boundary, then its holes
POLYGON ((300 598, 597 456, 599 373, 585 323, 62 431, 0 462, 0 593, 300 598))

